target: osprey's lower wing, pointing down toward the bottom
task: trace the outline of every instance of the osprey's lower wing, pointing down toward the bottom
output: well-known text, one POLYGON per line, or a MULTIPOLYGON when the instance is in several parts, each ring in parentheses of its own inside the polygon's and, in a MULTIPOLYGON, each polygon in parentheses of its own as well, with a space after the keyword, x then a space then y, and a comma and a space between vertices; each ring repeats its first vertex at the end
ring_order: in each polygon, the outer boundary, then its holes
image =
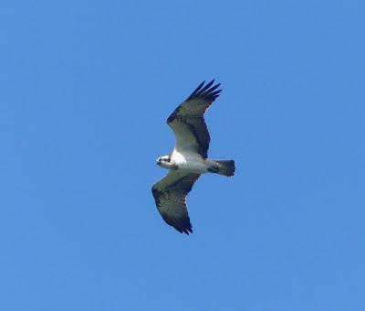
POLYGON ((193 233, 186 208, 186 196, 199 177, 200 174, 171 170, 152 187, 153 198, 162 219, 181 233, 193 233))

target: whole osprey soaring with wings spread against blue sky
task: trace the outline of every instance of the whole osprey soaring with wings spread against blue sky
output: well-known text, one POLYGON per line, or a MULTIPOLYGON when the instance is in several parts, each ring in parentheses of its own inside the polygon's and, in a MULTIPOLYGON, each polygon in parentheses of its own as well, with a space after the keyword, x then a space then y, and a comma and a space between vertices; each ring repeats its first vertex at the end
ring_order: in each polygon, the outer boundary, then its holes
POLYGON ((194 182, 205 173, 235 175, 235 161, 208 158, 210 136, 203 114, 222 90, 215 91, 220 84, 212 86, 214 80, 203 86, 204 82, 167 118, 176 144, 172 154, 159 157, 156 164, 170 171, 151 189, 162 219, 186 234, 193 233, 186 196, 194 182))

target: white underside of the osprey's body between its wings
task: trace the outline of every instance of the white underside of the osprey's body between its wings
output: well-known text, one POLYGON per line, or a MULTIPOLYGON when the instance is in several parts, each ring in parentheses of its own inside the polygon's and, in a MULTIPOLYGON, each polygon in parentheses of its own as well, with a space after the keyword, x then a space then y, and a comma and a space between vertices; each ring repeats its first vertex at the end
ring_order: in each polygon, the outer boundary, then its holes
POLYGON ((204 174, 208 171, 209 159, 203 159, 202 155, 180 151, 176 149, 172 151, 172 164, 177 165, 179 168, 191 173, 204 174))

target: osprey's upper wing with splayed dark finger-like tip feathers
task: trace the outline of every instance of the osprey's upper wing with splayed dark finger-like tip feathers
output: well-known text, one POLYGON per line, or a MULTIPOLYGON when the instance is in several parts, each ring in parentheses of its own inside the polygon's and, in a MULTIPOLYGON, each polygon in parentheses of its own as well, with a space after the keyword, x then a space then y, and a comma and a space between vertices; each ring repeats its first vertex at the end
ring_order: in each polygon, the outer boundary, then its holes
POLYGON ((174 110, 167 123, 175 134, 177 151, 195 152, 206 158, 211 138, 203 115, 222 90, 215 91, 220 84, 212 86, 214 80, 203 86, 204 82, 174 110))

